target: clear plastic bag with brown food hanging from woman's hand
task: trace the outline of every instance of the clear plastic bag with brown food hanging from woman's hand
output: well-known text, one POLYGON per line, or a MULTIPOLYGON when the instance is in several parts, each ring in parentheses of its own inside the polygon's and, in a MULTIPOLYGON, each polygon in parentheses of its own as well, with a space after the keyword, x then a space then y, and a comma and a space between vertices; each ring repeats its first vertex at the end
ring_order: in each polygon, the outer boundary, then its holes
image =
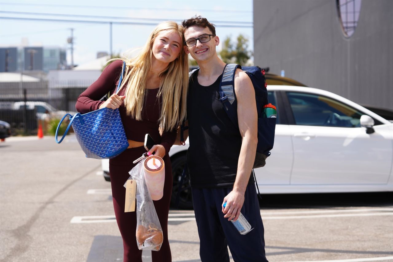
POLYGON ((146 185, 144 162, 145 159, 129 172, 129 179, 136 181, 136 242, 140 250, 158 251, 163 242, 162 227, 146 185))

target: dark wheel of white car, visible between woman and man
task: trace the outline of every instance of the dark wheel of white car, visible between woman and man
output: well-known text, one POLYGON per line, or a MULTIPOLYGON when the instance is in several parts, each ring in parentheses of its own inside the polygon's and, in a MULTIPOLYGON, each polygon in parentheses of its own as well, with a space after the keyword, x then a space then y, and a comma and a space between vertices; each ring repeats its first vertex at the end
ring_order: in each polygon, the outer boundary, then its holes
MULTIPOLYGON (((183 168, 186 161, 186 155, 176 156, 171 160, 172 164, 172 175, 173 175, 173 188, 172 188, 172 197, 171 197, 171 205, 176 207, 176 197, 179 192, 179 184, 180 179, 182 178, 183 168)), ((180 188, 179 195, 179 208, 181 209, 193 209, 193 199, 191 196, 191 185, 190 179, 187 171, 187 175, 183 181, 183 184, 180 188)))

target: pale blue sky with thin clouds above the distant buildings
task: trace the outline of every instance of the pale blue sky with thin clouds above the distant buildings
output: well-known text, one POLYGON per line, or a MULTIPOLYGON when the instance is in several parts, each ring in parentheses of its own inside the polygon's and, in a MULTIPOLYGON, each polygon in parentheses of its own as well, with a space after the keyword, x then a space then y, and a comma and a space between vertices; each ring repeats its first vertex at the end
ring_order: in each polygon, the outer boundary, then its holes
MULTIPOLYGON (((73 61, 75 65, 80 65, 94 60, 97 52, 110 52, 109 24, 9 18, 153 23, 112 25, 112 50, 123 54, 127 50, 143 46, 158 22, 174 20, 180 23, 193 15, 201 15, 216 24, 216 34, 221 43, 228 36, 235 41, 239 34, 243 34, 250 40, 249 50, 253 49, 252 0, 0 0, 0 46, 21 46, 24 43, 28 46, 67 48, 67 61, 70 64, 67 38, 71 35, 70 28, 73 28, 73 61), (233 25, 244 27, 231 27, 233 25)), ((222 44, 217 50, 221 46, 222 44)))

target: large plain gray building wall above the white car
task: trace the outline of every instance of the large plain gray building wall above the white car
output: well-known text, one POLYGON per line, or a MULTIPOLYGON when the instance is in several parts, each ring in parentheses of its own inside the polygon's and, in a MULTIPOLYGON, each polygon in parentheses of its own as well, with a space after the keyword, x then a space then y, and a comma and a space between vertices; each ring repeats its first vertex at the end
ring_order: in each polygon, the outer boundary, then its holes
POLYGON ((393 1, 362 0, 350 38, 335 0, 254 0, 254 64, 393 109, 393 1))

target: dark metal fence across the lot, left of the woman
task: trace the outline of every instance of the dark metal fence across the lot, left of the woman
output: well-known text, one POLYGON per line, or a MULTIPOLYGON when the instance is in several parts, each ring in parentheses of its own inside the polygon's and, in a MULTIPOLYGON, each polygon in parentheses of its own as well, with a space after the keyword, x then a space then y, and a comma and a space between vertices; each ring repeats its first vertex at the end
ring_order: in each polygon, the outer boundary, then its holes
MULTIPOLYGON (((43 131, 48 131, 50 122, 56 121, 58 111, 75 112, 75 103, 78 96, 86 90, 92 82, 73 82, 72 85, 64 83, 40 82, 1 82, 0 83, 0 120, 11 125, 12 135, 37 134, 39 124, 42 124, 43 131), (16 102, 37 102, 50 109, 47 112, 41 111, 39 107, 20 107, 21 103, 16 102), (18 105, 18 106, 16 106, 18 105), (53 111, 53 112, 52 112, 53 111), (44 116, 44 117, 43 117, 44 116)), ((33 103, 26 103, 33 104, 33 103)), ((22 103, 24 105, 24 103, 22 103)), ((52 123, 53 124, 53 123, 52 123)))

